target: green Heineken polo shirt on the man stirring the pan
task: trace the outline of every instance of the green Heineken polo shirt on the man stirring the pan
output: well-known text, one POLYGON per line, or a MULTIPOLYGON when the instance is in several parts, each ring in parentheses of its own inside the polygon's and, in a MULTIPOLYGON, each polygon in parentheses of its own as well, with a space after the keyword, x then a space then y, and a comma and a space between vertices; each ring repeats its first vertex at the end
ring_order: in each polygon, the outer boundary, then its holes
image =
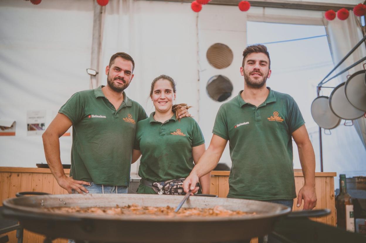
POLYGON ((291 134, 305 122, 295 100, 269 89, 258 107, 239 95, 221 105, 213 133, 229 140, 231 198, 296 197, 291 134))

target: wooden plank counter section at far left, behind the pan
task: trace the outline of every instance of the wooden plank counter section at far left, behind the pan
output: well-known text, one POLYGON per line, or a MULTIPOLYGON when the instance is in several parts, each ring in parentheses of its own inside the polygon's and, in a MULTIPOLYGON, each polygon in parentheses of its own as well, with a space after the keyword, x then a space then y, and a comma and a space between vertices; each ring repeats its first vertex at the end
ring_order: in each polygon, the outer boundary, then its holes
MULTIPOLYGON (((20 191, 42 191, 51 194, 67 194, 50 173, 0 172, 0 205, 3 201, 15 197, 20 191)), ((10 243, 16 243, 16 231, 7 233, 10 243)), ((2 236, 2 235, 1 235, 2 236)), ((45 237, 24 230, 24 243, 43 243, 45 237)), ((53 243, 67 243, 67 239, 56 239, 53 243)))

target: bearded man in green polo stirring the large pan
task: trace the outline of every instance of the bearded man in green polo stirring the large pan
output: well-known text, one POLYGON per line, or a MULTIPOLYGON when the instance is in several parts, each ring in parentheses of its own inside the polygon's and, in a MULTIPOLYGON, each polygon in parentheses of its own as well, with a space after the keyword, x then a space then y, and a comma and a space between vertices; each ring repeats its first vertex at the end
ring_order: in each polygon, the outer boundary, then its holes
POLYGON ((295 100, 266 87, 271 70, 264 45, 244 50, 240 73, 244 90, 217 112, 210 145, 184 181, 184 191, 197 191, 198 178, 216 166, 229 140, 232 167, 227 197, 276 202, 292 208, 296 197, 294 138, 305 178, 297 206, 304 200, 304 209, 313 209, 317 201, 313 146, 295 100))

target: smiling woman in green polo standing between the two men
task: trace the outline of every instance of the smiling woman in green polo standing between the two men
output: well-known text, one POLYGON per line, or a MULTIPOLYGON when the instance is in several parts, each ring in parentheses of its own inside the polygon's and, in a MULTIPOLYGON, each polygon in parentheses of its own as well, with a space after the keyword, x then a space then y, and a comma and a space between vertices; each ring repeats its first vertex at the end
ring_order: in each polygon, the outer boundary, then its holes
MULTIPOLYGON (((186 178, 205 151, 197 122, 191 117, 179 119, 180 107, 189 107, 173 106, 175 93, 175 82, 167 75, 160 75, 151 84, 155 112, 137 123, 132 158, 134 162, 142 154, 138 172, 142 179, 137 193, 181 193, 180 181, 169 181, 186 178)), ((210 174, 202 176, 199 182, 202 193, 209 194, 210 174)))

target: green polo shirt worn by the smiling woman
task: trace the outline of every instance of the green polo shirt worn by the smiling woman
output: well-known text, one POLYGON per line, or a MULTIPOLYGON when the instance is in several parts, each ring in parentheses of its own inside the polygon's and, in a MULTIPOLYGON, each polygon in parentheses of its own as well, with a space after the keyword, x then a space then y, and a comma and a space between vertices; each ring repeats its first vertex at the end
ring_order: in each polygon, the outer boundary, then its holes
MULTIPOLYGON (((154 114, 137 123, 135 149, 142 154, 138 175, 150 182, 186 178, 194 167, 192 147, 205 143, 201 129, 191 117, 178 121, 173 115, 161 123, 154 114)), ((141 184, 138 193, 155 194, 141 184)))

